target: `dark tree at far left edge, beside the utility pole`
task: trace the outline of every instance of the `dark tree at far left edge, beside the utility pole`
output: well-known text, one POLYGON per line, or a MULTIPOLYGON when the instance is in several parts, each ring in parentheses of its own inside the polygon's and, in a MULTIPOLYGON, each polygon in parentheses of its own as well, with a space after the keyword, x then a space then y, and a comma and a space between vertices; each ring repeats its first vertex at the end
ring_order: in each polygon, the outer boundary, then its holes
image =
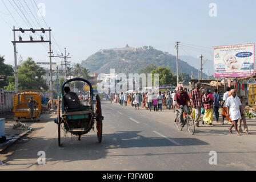
POLYGON ((13 67, 11 65, 5 64, 5 56, 0 55, 0 75, 5 76, 3 81, 0 81, 0 88, 8 85, 7 77, 13 75, 13 67))

